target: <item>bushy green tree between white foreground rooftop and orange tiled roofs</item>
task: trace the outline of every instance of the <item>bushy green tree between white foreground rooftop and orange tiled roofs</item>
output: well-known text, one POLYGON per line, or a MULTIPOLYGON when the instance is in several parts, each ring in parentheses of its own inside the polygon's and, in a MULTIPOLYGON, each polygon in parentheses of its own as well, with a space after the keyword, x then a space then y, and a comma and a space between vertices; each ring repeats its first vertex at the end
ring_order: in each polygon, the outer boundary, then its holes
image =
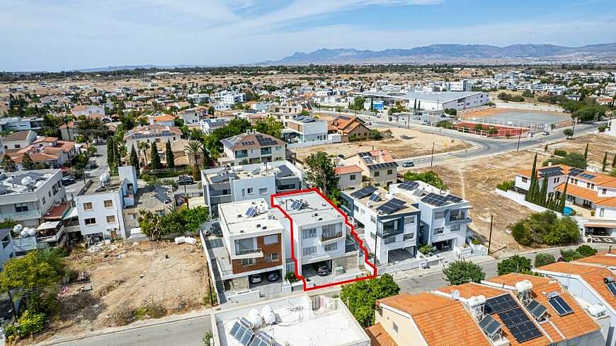
POLYGON ((363 327, 375 321, 375 306, 378 299, 399 294, 400 287, 389 274, 367 279, 352 284, 345 284, 340 289, 340 298, 350 313, 363 327))

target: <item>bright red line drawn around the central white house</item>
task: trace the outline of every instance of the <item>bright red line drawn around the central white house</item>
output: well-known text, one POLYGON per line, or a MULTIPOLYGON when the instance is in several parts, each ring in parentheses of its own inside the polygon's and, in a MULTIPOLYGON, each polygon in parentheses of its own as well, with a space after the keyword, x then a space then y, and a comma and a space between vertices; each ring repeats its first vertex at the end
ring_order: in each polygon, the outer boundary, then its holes
POLYGON ((343 217, 344 217, 344 223, 350 227, 350 233, 353 236, 353 238, 355 238, 355 241, 358 242, 361 250, 364 253, 364 263, 367 264, 369 267, 372 268, 372 275, 368 275, 365 277, 355 277, 355 279, 348 279, 348 280, 344 280, 341 282, 330 282, 329 284, 321 284, 321 285, 316 285, 314 287, 306 287, 306 278, 303 276, 298 276, 299 279, 302 280, 302 282, 304 283, 304 291, 311 291, 312 289, 321 289, 324 287, 331 287, 331 286, 336 286, 338 284, 349 284, 350 282, 358 282, 361 280, 365 280, 365 279, 372 279, 377 277, 377 267, 375 267, 375 265, 373 265, 372 263, 368 262, 368 251, 366 250, 366 248, 363 246, 363 241, 359 238, 358 233, 355 232, 355 226, 353 226, 352 224, 350 224, 350 222, 348 221, 348 215, 343 212, 341 209, 339 209, 338 207, 336 207, 335 205, 333 205, 333 203, 327 198, 325 197, 321 191, 319 191, 319 189, 317 188, 312 188, 312 189, 306 189, 306 190, 295 190, 295 191, 290 191, 290 192, 280 192, 277 193, 275 195, 271 195, 270 197, 270 204, 272 207, 276 207, 278 208, 278 210, 280 210, 280 212, 282 212, 285 217, 287 219, 289 219, 290 222, 290 233, 291 233, 291 258, 293 259, 293 262, 295 262, 295 273, 299 272, 297 270, 297 258, 295 258, 295 247, 293 246, 294 239, 293 239, 293 219, 292 217, 290 217, 289 214, 287 214, 287 212, 285 211, 285 209, 283 209, 282 207, 280 207, 280 205, 275 204, 274 203, 274 197, 284 197, 284 196, 289 196, 289 195, 297 195, 300 193, 306 193, 306 192, 316 192, 318 193, 324 200, 326 200, 329 205, 331 205, 331 207, 333 207, 334 209, 336 209, 337 212, 339 212, 343 217))

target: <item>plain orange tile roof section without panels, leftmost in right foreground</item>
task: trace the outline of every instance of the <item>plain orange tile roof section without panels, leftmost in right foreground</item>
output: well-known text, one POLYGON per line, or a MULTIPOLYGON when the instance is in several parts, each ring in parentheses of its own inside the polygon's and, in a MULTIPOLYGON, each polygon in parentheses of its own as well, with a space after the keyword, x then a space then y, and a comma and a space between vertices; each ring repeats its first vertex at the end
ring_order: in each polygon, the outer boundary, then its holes
POLYGON ((409 313, 430 346, 491 345, 460 301, 424 292, 391 296, 378 304, 409 313))

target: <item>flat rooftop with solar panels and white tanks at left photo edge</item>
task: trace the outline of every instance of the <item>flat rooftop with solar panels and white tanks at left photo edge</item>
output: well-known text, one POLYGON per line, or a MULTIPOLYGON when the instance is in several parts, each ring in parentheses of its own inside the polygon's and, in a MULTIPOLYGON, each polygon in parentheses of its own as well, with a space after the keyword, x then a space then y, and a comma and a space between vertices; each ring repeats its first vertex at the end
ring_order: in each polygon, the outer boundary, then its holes
POLYGON ((35 192, 59 171, 59 169, 40 169, 1 173, 0 196, 35 192))

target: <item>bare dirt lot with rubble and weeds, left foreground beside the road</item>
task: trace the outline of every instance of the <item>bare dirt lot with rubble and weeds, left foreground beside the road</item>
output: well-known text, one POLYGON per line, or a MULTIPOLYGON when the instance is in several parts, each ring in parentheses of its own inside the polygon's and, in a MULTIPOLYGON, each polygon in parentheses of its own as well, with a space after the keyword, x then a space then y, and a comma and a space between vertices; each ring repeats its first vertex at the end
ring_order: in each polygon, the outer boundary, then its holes
POLYGON ((78 293, 87 284, 69 285, 60 296, 50 332, 36 341, 154 317, 145 306, 155 306, 156 317, 183 313, 203 306, 207 294, 205 255, 199 243, 117 242, 97 252, 73 250, 66 260, 70 269, 90 272, 92 289, 78 293), (127 314, 137 317, 126 318, 127 314))

